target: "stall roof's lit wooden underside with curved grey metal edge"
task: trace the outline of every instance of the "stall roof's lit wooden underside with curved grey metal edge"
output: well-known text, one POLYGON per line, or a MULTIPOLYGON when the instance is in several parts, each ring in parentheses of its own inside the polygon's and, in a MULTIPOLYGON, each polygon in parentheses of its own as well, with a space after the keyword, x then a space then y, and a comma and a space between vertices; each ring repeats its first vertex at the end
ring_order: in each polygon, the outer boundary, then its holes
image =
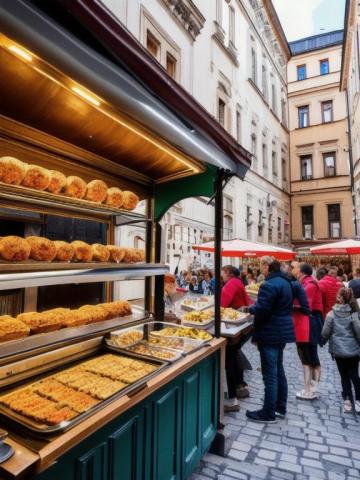
POLYGON ((0 25, 6 36, 0 58, 3 115, 144 171, 149 180, 199 173, 204 164, 245 175, 248 164, 187 125, 124 68, 81 42, 33 2, 0 2, 0 25), (35 61, 11 50, 13 43, 33 54, 35 61))

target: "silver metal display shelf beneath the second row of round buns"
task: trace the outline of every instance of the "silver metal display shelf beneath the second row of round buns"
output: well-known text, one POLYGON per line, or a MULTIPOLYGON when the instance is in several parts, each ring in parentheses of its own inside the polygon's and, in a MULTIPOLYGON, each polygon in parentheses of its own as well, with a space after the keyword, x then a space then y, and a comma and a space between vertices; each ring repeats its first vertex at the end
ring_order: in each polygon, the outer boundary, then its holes
POLYGON ((106 268, 79 268, 76 270, 54 270, 42 272, 3 273, 0 275, 0 290, 13 288, 42 287, 46 285, 67 285, 69 283, 115 282, 134 278, 164 275, 167 265, 158 263, 108 265, 106 268))

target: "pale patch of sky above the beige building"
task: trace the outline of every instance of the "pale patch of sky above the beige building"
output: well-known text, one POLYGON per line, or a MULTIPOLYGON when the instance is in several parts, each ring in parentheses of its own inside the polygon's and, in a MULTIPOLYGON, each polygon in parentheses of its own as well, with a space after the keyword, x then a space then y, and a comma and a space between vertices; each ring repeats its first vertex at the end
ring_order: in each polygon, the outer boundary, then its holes
POLYGON ((289 42, 344 27, 345 0, 273 0, 289 42))

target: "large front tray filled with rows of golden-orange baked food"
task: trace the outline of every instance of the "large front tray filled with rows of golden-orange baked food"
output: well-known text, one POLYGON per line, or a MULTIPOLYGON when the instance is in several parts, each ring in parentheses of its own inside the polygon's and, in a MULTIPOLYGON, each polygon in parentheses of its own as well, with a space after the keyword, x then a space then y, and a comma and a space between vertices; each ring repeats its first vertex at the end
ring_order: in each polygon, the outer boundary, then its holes
POLYGON ((105 352, 0 395, 0 413, 37 434, 66 431, 168 366, 132 352, 105 352))

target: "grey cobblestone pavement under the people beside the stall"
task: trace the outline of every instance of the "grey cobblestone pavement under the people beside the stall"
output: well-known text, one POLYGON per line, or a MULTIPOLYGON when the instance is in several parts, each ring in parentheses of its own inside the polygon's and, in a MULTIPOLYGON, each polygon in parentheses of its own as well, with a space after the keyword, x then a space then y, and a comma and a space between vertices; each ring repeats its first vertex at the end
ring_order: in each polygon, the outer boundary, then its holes
POLYGON ((319 399, 296 399, 302 369, 295 345, 288 345, 284 358, 288 415, 277 424, 263 425, 245 417, 246 410, 259 408, 263 398, 259 355, 246 344, 244 352, 253 366, 246 377, 250 398, 240 401, 240 412, 225 417, 233 440, 229 455, 205 455, 191 480, 359 480, 360 423, 352 414, 342 413, 335 362, 327 347, 319 350, 323 369, 319 399))

